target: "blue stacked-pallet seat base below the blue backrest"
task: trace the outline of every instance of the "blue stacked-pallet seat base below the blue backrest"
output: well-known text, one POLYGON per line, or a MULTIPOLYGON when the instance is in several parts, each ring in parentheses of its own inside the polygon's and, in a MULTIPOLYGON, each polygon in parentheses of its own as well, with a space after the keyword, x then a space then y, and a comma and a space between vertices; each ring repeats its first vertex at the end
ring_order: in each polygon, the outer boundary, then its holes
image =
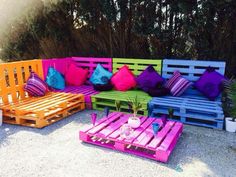
POLYGON ((185 124, 223 129, 224 112, 221 103, 184 97, 155 97, 149 102, 149 115, 158 117, 174 110, 174 120, 185 124))

